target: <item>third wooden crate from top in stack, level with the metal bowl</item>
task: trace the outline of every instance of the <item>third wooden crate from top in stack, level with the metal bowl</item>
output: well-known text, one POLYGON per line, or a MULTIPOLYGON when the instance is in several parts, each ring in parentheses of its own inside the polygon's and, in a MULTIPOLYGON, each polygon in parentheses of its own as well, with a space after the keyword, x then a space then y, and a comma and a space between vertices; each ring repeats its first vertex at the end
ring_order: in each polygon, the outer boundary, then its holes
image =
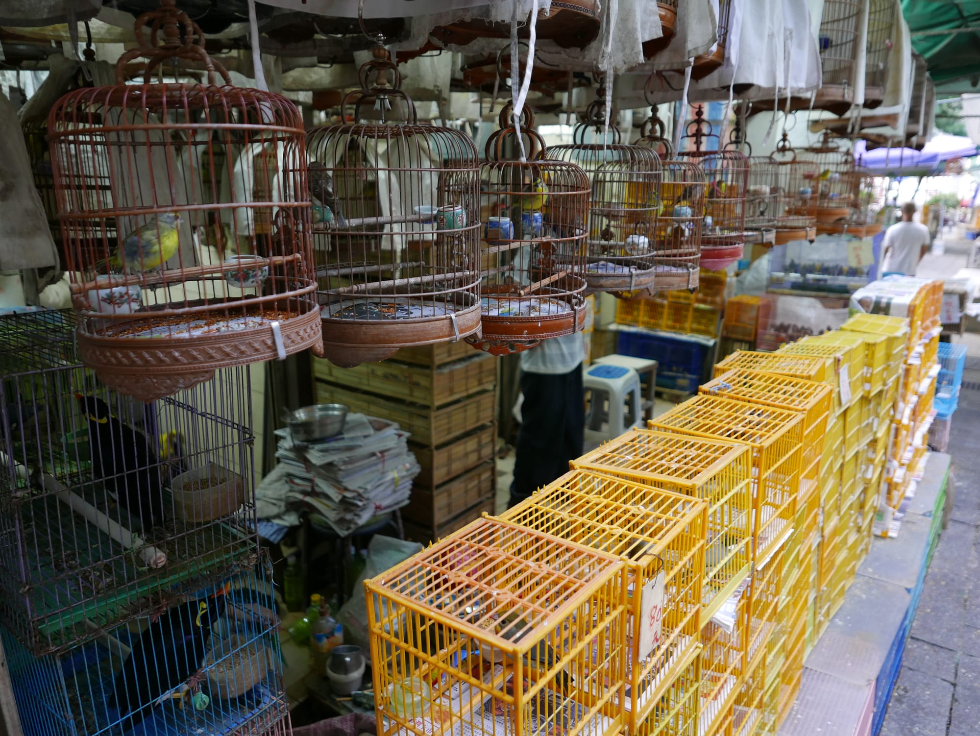
POLYGON ((402 429, 412 435, 413 442, 441 445, 493 421, 497 394, 493 390, 483 391, 444 407, 419 407, 317 381, 317 401, 321 404, 346 404, 352 412, 397 421, 402 429))

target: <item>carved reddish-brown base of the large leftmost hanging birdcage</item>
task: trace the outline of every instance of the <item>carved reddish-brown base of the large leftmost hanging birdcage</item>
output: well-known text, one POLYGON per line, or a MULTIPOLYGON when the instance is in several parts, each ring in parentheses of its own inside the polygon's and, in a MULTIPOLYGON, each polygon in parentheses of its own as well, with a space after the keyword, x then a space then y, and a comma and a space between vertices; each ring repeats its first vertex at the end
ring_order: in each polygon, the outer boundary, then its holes
MULTIPOLYGON (((274 313, 266 313, 267 318, 274 313)), ((214 315, 210 316, 212 319, 214 315)), ((83 364, 94 368, 108 385, 144 402, 156 401, 181 389, 210 380, 218 368, 269 361, 279 357, 277 339, 270 321, 247 329, 233 329, 194 336, 145 337, 123 335, 141 319, 120 321, 112 331, 100 328, 95 334, 84 321, 77 328, 78 354, 83 364)), ((231 319, 230 316, 221 319, 231 319)), ((93 320, 98 321, 98 320, 93 320)), ((281 347, 285 355, 311 348, 319 353, 323 338, 319 312, 278 319, 281 347)))

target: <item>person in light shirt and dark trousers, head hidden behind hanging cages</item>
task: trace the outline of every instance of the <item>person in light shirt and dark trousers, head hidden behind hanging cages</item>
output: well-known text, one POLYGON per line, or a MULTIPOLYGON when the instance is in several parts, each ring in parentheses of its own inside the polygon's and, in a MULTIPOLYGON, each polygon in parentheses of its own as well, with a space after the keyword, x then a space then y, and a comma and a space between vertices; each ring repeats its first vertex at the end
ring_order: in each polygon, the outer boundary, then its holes
POLYGON ((515 445, 510 506, 564 475, 582 454, 584 334, 542 340, 520 354, 520 429, 515 445))

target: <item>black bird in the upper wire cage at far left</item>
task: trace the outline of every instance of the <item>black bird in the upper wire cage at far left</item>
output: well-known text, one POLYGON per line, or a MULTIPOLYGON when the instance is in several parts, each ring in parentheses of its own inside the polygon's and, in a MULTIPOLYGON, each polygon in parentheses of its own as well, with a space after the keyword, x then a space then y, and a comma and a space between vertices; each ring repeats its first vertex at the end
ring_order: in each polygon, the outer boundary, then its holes
POLYGON ((88 420, 92 472, 104 480, 120 505, 137 515, 143 529, 164 522, 164 497, 157 454, 146 436, 117 417, 95 396, 75 394, 88 420))

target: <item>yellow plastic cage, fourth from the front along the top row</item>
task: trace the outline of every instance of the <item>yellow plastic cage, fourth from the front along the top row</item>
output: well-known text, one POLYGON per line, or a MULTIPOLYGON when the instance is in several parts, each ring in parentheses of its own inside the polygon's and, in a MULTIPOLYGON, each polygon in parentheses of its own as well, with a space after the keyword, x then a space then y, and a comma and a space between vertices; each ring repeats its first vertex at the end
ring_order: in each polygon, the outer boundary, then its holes
POLYGON ((753 560, 768 557, 789 533, 796 513, 803 417, 798 412, 700 394, 652 419, 650 428, 752 448, 753 560))

